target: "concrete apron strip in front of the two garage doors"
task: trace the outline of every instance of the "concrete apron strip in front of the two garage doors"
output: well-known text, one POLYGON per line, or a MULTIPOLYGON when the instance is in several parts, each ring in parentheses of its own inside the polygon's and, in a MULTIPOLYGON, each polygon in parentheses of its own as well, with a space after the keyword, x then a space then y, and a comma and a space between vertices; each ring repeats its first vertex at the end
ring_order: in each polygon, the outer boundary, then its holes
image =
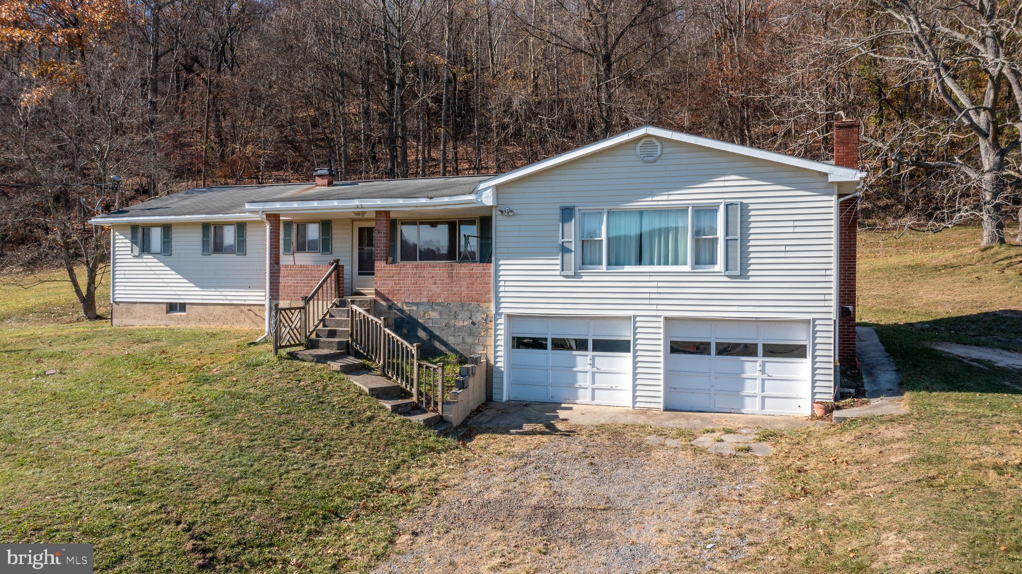
POLYGON ((557 402, 486 402, 482 412, 466 424, 504 432, 535 432, 554 421, 579 425, 649 425, 653 427, 701 430, 721 427, 796 429, 812 424, 801 417, 732 415, 730 413, 682 413, 677 411, 631 410, 557 402))

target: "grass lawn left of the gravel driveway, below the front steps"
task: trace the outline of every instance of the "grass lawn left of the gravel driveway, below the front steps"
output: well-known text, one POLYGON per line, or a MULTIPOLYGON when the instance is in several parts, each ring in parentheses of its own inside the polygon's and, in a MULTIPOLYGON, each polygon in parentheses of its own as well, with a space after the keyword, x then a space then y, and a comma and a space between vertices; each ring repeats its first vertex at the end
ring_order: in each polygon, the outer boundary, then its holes
POLYGON ((4 541, 94 542, 97 572, 362 570, 450 472, 454 441, 259 332, 74 313, 65 283, 0 286, 4 541))

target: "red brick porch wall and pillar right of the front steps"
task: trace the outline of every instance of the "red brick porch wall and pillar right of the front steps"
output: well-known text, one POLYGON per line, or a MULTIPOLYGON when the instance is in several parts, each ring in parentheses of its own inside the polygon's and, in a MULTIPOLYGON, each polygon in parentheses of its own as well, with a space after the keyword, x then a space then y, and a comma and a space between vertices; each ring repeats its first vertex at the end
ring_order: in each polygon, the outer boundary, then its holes
POLYGON ((390 211, 376 211, 373 250, 373 288, 381 301, 491 303, 492 264, 387 264, 390 211))

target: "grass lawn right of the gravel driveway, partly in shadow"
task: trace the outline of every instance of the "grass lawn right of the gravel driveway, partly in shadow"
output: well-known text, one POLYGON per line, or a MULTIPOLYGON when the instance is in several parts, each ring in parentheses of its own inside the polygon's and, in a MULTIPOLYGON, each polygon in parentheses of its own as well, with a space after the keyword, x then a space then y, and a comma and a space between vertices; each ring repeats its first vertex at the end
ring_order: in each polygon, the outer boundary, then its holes
POLYGON ((862 234, 858 320, 877 327, 911 413, 773 441, 786 526, 757 557, 780 558, 763 563, 1022 572, 1022 373, 926 345, 1022 350, 1022 247, 980 249, 978 237, 967 228, 862 234))

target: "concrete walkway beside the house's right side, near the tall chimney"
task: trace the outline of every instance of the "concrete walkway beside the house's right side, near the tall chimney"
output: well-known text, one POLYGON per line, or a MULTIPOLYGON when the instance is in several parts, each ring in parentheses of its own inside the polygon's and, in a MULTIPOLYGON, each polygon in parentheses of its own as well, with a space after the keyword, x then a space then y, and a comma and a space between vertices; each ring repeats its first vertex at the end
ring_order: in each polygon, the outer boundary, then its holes
POLYGON ((835 411, 834 424, 857 419, 860 417, 876 417, 880 415, 902 415, 909 411, 901 403, 901 388, 898 383, 901 377, 897 367, 887 354, 887 350, 877 337, 873 327, 855 328, 856 351, 858 363, 863 369, 863 382, 866 385, 866 398, 870 403, 855 409, 835 411))

